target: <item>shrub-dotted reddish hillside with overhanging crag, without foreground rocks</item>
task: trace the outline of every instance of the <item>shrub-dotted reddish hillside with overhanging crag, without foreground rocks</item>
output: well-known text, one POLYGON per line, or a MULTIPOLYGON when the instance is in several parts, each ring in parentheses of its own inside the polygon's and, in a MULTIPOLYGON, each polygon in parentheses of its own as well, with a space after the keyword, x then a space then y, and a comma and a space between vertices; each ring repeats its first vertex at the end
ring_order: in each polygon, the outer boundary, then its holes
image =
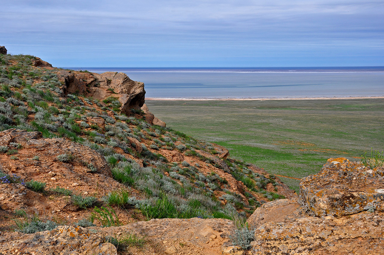
POLYGON ((2 190, 28 193, 1 199, 2 230, 12 228, 15 210, 44 210, 66 224, 107 204, 124 223, 232 219, 293 196, 263 169, 230 159, 224 147, 165 127, 143 106, 144 84, 125 74, 57 69, 33 56, 0 55, 0 61, 1 170, 15 176, 2 190), (45 188, 35 194, 21 180, 45 188), (159 203, 171 208, 162 211, 159 203))

